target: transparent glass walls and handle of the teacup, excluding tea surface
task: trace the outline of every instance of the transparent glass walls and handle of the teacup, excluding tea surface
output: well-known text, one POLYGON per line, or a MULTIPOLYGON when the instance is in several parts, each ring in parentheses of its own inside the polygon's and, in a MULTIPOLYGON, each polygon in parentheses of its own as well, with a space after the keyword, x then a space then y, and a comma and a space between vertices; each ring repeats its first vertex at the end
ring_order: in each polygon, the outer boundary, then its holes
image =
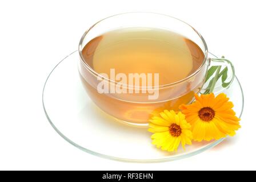
MULTIPOLYGON (((189 104, 193 101, 194 94, 202 91, 207 70, 209 69, 211 62, 215 61, 215 65, 226 65, 227 67, 233 68, 233 65, 225 59, 211 59, 208 56, 205 40, 189 24, 171 16, 155 13, 125 13, 102 19, 91 26, 89 30, 83 34, 78 51, 80 56, 78 65, 79 73, 83 86, 91 100, 93 100, 103 111, 113 115, 114 118, 134 125, 145 125, 148 123, 149 117, 157 114, 159 111, 162 111, 163 109, 178 110, 179 105, 189 104), (97 91, 99 82, 105 81, 110 87, 120 86, 120 83, 95 72, 93 68, 86 63, 86 59, 82 54, 82 49, 90 42, 90 40, 97 36, 111 30, 126 27, 161 28, 177 32, 187 39, 192 40, 201 48, 204 54, 201 66, 186 78, 170 84, 146 87, 121 84, 123 88, 134 91, 137 90, 138 92, 99 93, 97 91), (149 100, 150 93, 143 93, 143 89, 149 89, 153 92, 154 90, 157 90, 159 97, 155 100, 149 100)), ((113 68, 114 67, 115 65, 113 65, 113 68)), ((231 73, 231 76, 229 77, 233 78, 234 72, 231 73)))

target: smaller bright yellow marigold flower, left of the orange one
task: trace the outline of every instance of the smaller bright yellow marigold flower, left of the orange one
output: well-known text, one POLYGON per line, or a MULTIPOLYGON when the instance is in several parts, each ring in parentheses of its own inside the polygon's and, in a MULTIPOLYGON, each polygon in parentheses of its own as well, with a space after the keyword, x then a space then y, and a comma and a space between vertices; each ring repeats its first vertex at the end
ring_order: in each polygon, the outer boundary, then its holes
POLYGON ((190 124, 186 122, 185 115, 179 112, 176 114, 173 110, 164 110, 158 116, 152 117, 149 123, 149 131, 152 144, 166 151, 177 151, 181 143, 183 148, 185 144, 192 144, 192 132, 190 124))

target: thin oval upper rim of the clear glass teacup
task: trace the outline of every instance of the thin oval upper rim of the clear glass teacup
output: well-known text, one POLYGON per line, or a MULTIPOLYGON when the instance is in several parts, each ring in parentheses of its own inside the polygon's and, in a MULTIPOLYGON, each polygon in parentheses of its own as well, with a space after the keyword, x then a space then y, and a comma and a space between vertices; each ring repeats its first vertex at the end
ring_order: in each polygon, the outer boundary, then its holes
MULTIPOLYGON (((152 87, 155 89, 159 89, 159 88, 165 88, 165 87, 169 87, 169 86, 174 86, 174 85, 178 85, 178 84, 181 84, 182 82, 185 82, 187 80, 189 80, 190 78, 194 77, 195 75, 197 75, 201 69, 205 66, 206 64, 206 60, 207 60, 207 57, 208 57, 208 47, 207 47, 207 44, 205 42, 205 39, 203 38, 203 36, 197 31, 195 30, 194 27, 192 27, 189 23, 186 23, 184 22, 183 20, 181 19, 178 19, 178 18, 175 18, 173 16, 170 16, 170 15, 165 15, 165 14, 161 14, 161 13, 152 13, 152 12, 143 12, 143 11, 136 11, 136 12, 127 12, 127 13, 119 13, 119 14, 115 14, 115 15, 111 15, 111 16, 107 16, 106 18, 103 18, 101 20, 99 20, 98 22, 94 23, 93 26, 91 26, 87 31, 85 31, 85 33, 82 35, 80 41, 79 41, 79 46, 78 46, 78 52, 79 52, 79 57, 80 59, 82 59, 82 64, 86 67, 86 69, 92 73, 94 76, 97 76, 103 80, 106 80, 106 81, 109 81, 109 82, 112 82, 113 84, 119 84, 119 85, 122 85, 124 86, 125 88, 139 88, 139 89, 145 89, 145 88, 150 88, 152 89, 152 87), (184 24, 186 24, 187 26, 189 26, 190 28, 192 28, 192 30, 199 36, 199 38, 202 40, 202 43, 203 43, 203 46, 205 47, 205 52, 204 52, 204 55, 205 57, 203 58, 203 62, 202 64, 200 65, 200 67, 195 71, 193 72, 191 75, 187 76, 186 78, 183 78, 182 80, 178 80, 178 81, 175 81, 175 82, 172 82, 170 84, 164 84, 164 85, 158 85, 158 86, 134 86, 134 85, 128 85, 128 84, 122 84, 120 82, 117 82, 117 81, 114 81, 114 80, 111 80, 110 78, 106 78, 106 77, 103 77, 102 75, 100 75, 100 73, 97 73, 94 71, 93 68, 90 67, 89 64, 86 63, 86 60, 83 58, 83 55, 82 55, 82 43, 83 43, 83 40, 85 39, 87 33, 94 27, 96 26, 98 23, 102 22, 103 20, 105 19, 109 19, 111 17, 114 17, 114 16, 118 16, 118 15, 124 15, 124 14, 155 14, 155 15, 162 15, 162 16, 167 16, 169 18, 173 18, 175 20, 178 20, 179 22, 182 22, 184 24)), ((81 61, 81 60, 80 60, 81 61)))

